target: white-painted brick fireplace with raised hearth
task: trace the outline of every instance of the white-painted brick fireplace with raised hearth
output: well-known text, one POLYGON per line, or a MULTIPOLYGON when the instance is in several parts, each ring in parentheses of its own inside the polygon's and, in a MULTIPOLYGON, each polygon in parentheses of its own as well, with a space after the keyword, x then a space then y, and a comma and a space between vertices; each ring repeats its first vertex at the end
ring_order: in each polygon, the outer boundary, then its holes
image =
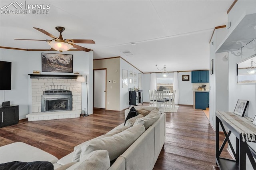
POLYGON ((76 76, 54 77, 54 75, 30 75, 30 78, 32 78, 32 113, 26 115, 28 121, 80 117, 82 109, 82 91, 81 83, 76 82, 76 76), (69 97, 65 96, 64 98, 62 97, 63 99, 59 100, 59 105, 62 106, 56 111, 56 106, 49 107, 48 105, 52 103, 52 100, 58 100, 56 97, 60 92, 64 93, 63 95, 69 95, 69 97), (44 96, 47 95, 48 97, 45 97, 46 101, 44 101, 44 96), (68 108, 68 98, 70 97, 70 106, 68 108), (65 100, 67 100, 66 103, 65 100), (47 103, 47 107, 49 107, 47 111, 44 111, 45 108, 42 108, 44 107, 43 103, 47 103), (63 109, 64 107, 65 109, 63 109), (64 111, 62 111, 62 109, 64 111))

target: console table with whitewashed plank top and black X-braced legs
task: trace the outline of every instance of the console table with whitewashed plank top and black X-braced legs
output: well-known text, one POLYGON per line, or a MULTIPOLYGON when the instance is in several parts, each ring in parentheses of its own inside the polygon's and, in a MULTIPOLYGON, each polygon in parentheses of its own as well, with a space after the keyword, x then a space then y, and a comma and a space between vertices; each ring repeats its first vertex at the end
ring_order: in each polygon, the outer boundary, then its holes
POLYGON ((231 112, 216 111, 216 164, 221 170, 246 170, 246 155, 254 170, 256 170, 255 151, 248 146, 247 142, 256 142, 256 125, 246 117, 241 117, 231 112), (219 124, 226 136, 219 148, 219 124), (224 125, 229 129, 228 133, 224 125), (229 136, 233 133, 236 136, 235 150, 230 142, 229 136), (220 157, 220 154, 228 142, 235 160, 220 157))

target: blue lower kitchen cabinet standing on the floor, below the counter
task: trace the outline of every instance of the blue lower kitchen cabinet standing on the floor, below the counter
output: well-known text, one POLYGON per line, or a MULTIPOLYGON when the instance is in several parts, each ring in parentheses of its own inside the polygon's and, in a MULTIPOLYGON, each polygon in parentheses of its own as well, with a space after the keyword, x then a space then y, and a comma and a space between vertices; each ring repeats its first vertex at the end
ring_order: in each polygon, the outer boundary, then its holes
POLYGON ((203 109, 209 107, 209 92, 195 92, 195 109, 203 109))

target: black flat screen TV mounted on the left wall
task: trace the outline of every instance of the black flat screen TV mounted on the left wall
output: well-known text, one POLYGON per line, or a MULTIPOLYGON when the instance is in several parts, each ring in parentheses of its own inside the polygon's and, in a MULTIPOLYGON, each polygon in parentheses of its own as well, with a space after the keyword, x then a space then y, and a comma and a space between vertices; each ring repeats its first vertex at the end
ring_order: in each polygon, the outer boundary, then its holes
POLYGON ((0 61, 0 90, 11 89, 12 63, 0 61))

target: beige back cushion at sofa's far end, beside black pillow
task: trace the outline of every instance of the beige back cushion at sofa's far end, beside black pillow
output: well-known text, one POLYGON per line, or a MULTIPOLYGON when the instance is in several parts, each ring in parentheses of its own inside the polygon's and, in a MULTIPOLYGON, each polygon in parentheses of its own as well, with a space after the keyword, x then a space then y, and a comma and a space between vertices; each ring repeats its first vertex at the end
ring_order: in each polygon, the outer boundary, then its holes
POLYGON ((136 119, 134 126, 144 125, 145 129, 148 129, 160 117, 160 115, 160 112, 157 109, 154 109, 145 117, 136 119))

